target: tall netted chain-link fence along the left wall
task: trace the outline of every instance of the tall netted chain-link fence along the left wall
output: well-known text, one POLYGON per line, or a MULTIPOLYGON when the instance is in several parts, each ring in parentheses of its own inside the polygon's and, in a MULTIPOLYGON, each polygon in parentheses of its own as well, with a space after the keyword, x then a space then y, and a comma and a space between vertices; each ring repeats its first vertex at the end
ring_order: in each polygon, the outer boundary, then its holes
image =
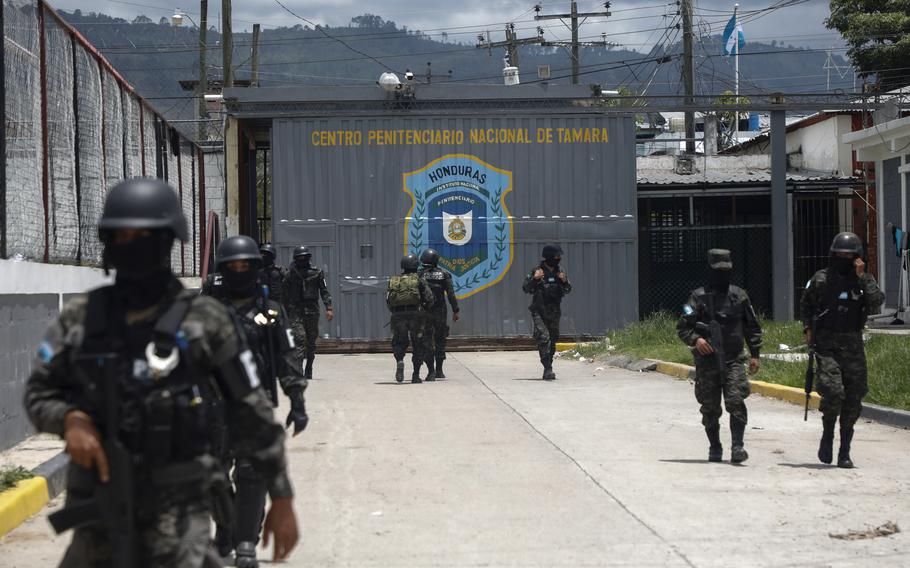
POLYGON ((108 189, 158 177, 180 195, 191 238, 172 267, 199 274, 202 153, 43 2, 3 1, 5 182, 0 256, 98 266, 108 189))

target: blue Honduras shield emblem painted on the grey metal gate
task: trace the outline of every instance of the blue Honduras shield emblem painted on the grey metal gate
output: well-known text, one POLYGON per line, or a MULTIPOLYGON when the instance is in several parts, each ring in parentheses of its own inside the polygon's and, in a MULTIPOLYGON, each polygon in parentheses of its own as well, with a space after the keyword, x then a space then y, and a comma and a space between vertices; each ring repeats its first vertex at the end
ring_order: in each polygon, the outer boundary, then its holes
POLYGON ((412 208, 405 251, 439 252, 455 294, 466 298, 499 282, 512 265, 512 221, 505 197, 512 172, 476 156, 450 154, 404 174, 412 208))

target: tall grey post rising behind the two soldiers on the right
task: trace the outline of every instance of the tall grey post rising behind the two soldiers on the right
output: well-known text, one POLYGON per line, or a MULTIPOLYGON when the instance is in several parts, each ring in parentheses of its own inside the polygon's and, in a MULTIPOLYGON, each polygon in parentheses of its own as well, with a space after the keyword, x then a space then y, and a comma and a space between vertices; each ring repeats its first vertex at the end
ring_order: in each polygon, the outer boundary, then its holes
POLYGON ((787 113, 771 111, 771 274, 774 319, 793 319, 793 263, 787 199, 787 113))

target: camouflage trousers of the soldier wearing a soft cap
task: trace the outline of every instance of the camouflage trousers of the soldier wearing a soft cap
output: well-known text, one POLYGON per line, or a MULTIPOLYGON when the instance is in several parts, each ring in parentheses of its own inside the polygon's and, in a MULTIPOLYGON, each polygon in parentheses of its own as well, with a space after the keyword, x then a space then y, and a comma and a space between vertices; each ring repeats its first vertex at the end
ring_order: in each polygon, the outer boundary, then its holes
POLYGON ((745 352, 740 353, 726 362, 725 372, 721 373, 714 357, 695 354, 695 400, 701 405, 701 423, 706 427, 719 424, 723 414, 721 399, 730 416, 744 424, 748 422, 746 398, 751 392, 746 376, 748 361, 745 352))

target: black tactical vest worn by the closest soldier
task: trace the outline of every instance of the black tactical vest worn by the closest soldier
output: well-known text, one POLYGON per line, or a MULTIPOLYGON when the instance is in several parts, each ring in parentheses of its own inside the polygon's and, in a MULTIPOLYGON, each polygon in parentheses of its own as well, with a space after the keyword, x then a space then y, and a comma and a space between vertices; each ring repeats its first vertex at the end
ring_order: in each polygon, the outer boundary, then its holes
POLYGON ((89 294, 85 336, 71 363, 86 383, 85 408, 105 430, 106 381, 117 382, 120 441, 143 467, 157 468, 209 453, 206 373, 194 368, 180 325, 190 305, 178 298, 155 321, 127 325, 112 287, 89 294), (169 363, 169 364, 167 364, 169 363))

